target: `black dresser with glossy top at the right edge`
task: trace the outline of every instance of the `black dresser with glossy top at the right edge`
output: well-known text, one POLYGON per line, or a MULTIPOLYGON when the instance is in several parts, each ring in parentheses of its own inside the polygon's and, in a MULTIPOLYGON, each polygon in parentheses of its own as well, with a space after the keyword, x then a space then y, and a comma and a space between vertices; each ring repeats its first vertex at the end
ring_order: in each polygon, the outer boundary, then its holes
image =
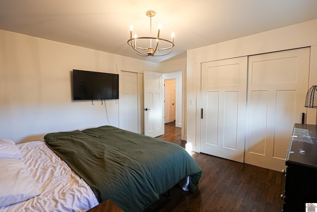
POLYGON ((317 125, 294 125, 286 166, 283 212, 306 212, 317 203, 317 125))

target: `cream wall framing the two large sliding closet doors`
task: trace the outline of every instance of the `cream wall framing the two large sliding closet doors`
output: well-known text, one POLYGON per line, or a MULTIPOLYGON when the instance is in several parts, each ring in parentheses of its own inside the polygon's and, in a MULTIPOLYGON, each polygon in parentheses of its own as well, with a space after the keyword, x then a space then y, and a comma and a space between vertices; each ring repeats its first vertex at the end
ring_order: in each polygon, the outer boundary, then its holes
MULTIPOLYGON (((200 150, 200 116, 197 114, 200 114, 201 63, 311 46, 312 85, 317 84, 316 45, 317 19, 187 51, 187 143, 194 151, 200 150), (190 100, 193 105, 189 104, 190 100)), ((316 110, 310 109, 308 113, 308 124, 316 124, 316 110)))

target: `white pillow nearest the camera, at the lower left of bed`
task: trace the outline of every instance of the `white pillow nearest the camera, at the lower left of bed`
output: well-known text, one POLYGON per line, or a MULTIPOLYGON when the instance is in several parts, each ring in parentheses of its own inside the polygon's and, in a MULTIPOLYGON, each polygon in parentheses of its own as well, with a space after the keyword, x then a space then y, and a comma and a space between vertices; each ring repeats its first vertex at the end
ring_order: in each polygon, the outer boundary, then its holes
POLYGON ((29 175, 23 161, 0 159, 0 207, 19 203, 40 194, 40 188, 29 175))

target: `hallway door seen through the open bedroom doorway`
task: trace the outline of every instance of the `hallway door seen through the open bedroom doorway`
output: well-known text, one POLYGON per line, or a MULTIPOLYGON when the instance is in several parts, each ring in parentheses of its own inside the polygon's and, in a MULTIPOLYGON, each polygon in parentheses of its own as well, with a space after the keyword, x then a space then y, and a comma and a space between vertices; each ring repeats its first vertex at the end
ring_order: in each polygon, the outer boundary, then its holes
POLYGON ((175 79, 165 79, 164 80, 164 111, 165 111, 165 121, 164 123, 173 122, 175 120, 175 79))

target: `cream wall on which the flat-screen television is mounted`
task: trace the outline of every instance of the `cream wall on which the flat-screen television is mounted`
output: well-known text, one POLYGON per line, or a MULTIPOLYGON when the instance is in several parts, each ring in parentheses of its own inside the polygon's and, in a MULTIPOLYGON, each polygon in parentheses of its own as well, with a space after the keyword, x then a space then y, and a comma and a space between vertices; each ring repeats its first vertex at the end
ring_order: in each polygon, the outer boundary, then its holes
POLYGON ((0 138, 41 141, 47 133, 118 127, 119 101, 72 101, 73 69, 157 71, 157 64, 0 30, 0 138))

